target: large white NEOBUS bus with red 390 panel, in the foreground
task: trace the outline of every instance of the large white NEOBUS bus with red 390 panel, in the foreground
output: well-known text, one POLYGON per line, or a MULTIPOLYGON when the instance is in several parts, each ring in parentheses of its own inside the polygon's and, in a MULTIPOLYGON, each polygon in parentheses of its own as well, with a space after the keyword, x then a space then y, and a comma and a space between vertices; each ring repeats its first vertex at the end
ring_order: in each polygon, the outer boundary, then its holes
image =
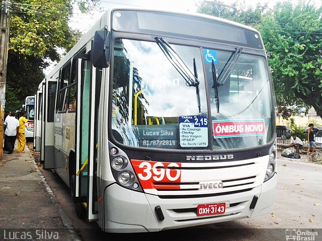
POLYGON ((255 29, 111 9, 40 83, 36 150, 103 231, 269 214, 273 96, 255 29))

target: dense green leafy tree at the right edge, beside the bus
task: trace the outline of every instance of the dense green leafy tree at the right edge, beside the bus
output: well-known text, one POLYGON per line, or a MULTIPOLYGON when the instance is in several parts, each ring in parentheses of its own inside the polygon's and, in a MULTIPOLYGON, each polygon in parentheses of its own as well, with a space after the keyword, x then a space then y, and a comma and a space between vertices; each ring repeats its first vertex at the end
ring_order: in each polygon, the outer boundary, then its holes
POLYGON ((278 3, 262 19, 259 30, 272 54, 269 64, 280 110, 313 106, 322 117, 321 10, 304 1, 278 3))

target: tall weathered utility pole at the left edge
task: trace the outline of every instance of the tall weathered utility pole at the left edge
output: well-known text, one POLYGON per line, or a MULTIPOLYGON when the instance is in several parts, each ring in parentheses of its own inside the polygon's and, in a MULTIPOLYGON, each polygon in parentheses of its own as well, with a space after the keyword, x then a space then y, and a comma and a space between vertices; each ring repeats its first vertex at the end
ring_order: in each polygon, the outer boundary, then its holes
POLYGON ((6 105, 6 80, 9 45, 10 8, 10 1, 2 2, 0 17, 0 160, 2 160, 4 156, 4 117, 6 105))

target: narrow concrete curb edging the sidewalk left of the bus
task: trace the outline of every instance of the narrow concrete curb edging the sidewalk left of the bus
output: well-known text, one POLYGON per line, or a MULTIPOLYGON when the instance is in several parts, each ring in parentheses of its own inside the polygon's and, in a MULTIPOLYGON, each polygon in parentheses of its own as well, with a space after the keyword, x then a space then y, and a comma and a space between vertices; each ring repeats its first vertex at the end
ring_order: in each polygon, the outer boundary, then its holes
POLYGON ((51 190, 50 186, 48 185, 48 183, 46 181, 46 178, 42 175, 41 171, 39 170, 35 159, 33 157, 31 157, 31 160, 32 160, 32 162, 34 164, 34 168, 36 169, 36 172, 38 173, 38 175, 42 179, 42 183, 44 184, 51 201, 53 202, 53 204, 58 209, 58 214, 59 214, 59 216, 61 218, 61 221, 64 224, 64 226, 66 227, 66 229, 68 229, 68 232, 72 237, 72 240, 73 241, 82 241, 82 239, 79 238, 79 236, 77 235, 76 231, 73 229, 71 220, 69 219, 69 217, 66 214, 66 212, 60 206, 59 201, 57 200, 57 198, 56 198, 55 194, 53 193, 53 191, 51 190))

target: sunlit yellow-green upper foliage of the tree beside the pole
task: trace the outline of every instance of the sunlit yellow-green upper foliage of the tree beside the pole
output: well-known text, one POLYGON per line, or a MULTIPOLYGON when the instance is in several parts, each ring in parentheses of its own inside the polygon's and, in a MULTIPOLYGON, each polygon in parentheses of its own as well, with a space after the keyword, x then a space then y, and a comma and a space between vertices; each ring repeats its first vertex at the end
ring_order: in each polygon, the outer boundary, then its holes
POLYGON ((81 37, 81 33, 69 29, 71 13, 68 1, 15 1, 9 51, 23 56, 59 60, 57 49, 65 48, 68 51, 81 37))

